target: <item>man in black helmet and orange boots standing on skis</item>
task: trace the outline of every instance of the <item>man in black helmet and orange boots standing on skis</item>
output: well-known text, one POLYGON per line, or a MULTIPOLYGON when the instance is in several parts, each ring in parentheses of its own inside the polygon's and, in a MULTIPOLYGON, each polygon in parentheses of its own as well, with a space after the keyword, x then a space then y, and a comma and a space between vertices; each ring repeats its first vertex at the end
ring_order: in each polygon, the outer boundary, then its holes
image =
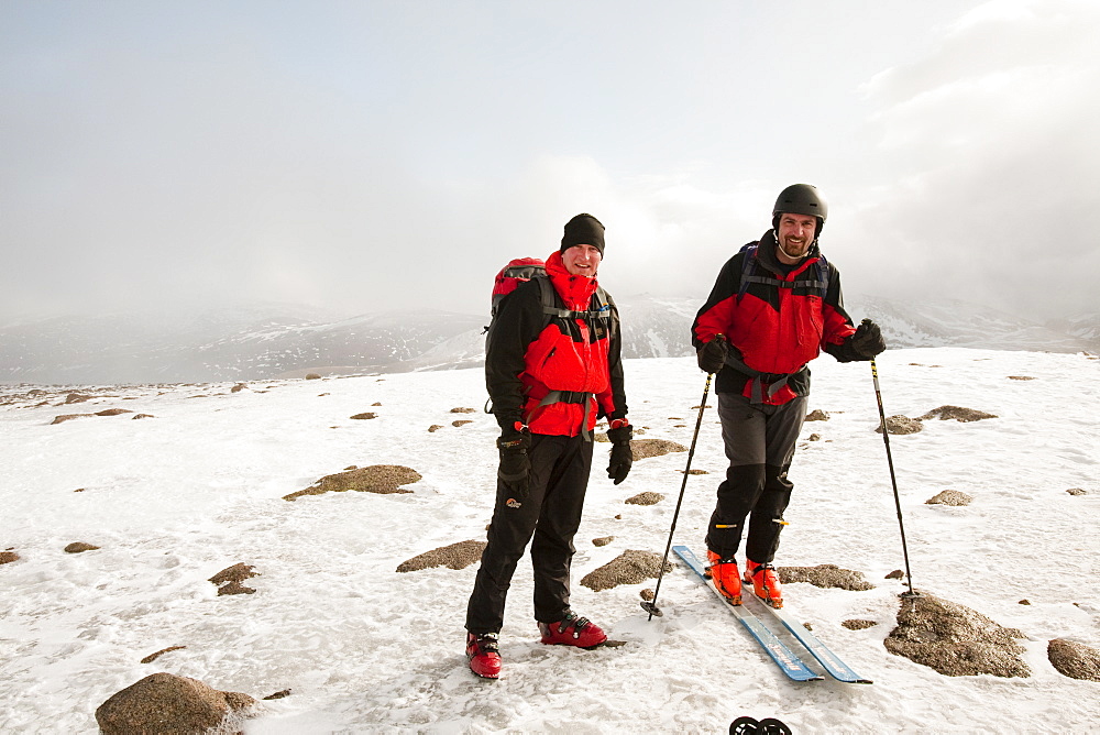
POLYGON ((878 326, 865 320, 857 329, 842 306, 839 273, 817 244, 827 216, 816 187, 783 189, 771 229, 723 265, 692 325, 700 368, 717 373, 729 460, 707 529, 707 560, 734 604, 741 602, 736 555, 748 520, 744 581, 767 604, 783 605, 771 562, 794 487, 787 472, 806 416, 807 363, 822 350, 850 362, 886 349, 878 326))

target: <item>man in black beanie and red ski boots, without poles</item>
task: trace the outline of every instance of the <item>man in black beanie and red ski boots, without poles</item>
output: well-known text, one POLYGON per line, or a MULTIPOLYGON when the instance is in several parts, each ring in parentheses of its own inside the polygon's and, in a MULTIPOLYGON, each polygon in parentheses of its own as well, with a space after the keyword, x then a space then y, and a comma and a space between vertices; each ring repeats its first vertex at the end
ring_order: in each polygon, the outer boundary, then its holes
POLYGON ((501 425, 501 464, 465 623, 470 669, 486 679, 501 676, 505 599, 528 542, 541 643, 592 648, 607 640, 569 605, 573 536, 598 417, 610 427, 607 476, 617 485, 634 461, 618 309, 596 283, 603 254, 600 220, 592 215, 569 220, 546 274, 508 294, 488 331, 485 384, 501 425))

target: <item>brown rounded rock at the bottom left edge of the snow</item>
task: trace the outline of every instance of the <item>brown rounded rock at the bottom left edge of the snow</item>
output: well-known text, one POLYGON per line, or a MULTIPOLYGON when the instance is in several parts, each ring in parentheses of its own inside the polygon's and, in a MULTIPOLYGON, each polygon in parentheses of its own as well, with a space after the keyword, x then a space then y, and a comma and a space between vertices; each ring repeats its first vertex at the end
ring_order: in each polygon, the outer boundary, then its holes
POLYGON ((102 735, 194 735, 244 714, 255 700, 221 692, 198 679, 154 673, 116 693, 96 710, 102 735))

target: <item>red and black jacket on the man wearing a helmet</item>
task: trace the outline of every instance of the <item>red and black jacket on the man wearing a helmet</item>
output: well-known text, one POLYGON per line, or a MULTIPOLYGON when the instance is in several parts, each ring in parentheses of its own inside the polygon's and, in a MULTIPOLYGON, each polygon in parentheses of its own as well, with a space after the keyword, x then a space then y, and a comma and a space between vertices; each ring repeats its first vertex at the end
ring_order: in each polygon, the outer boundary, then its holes
MULTIPOLYGON (((715 391, 750 396, 752 375, 759 373, 765 384, 782 383, 762 403, 779 405, 810 392, 810 369, 806 363, 824 350, 840 362, 862 360, 850 348, 856 328, 844 310, 840 274, 831 263, 824 279, 828 286, 822 297, 817 261, 821 251, 815 244, 807 257, 798 265, 784 266, 776 256, 774 232, 769 230, 751 250, 737 253, 722 266, 706 304, 692 325, 692 343, 700 349, 716 334, 724 334, 734 358, 748 368, 737 370, 727 364, 718 371, 715 391), (755 263, 745 263, 755 257, 755 263), (743 288, 741 274, 749 270, 784 282, 751 282, 743 288), (789 283, 790 287, 785 287, 789 283)), ((821 259, 824 262, 824 259, 821 259)))

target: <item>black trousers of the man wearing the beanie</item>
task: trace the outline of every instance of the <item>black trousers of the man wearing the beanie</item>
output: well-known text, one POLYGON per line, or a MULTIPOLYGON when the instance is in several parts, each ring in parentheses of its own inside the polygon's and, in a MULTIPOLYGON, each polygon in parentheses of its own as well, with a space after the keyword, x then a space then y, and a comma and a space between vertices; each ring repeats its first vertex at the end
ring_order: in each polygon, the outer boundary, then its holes
POLYGON ((466 629, 471 633, 499 633, 512 577, 529 541, 535 619, 557 623, 569 612, 569 569, 576 551, 573 536, 581 525, 588 486, 592 441, 536 434, 528 454, 531 485, 520 507, 508 507, 506 501, 514 493, 497 480, 488 544, 466 605, 466 629))

